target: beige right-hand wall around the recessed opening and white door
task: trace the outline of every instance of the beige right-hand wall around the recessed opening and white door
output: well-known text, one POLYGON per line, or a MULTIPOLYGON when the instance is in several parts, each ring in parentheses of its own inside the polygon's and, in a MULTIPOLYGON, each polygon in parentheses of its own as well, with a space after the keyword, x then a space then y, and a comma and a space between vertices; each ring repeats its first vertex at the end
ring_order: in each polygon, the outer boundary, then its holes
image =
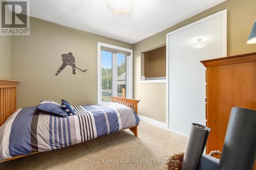
POLYGON ((140 55, 150 48, 165 44, 166 34, 184 27, 223 9, 227 9, 227 54, 236 55, 256 51, 256 44, 246 44, 253 21, 256 19, 255 0, 228 0, 177 25, 159 32, 134 44, 134 98, 141 100, 138 107, 140 115, 160 122, 166 122, 165 83, 140 83, 140 55), (150 94, 150 95, 149 95, 150 94))

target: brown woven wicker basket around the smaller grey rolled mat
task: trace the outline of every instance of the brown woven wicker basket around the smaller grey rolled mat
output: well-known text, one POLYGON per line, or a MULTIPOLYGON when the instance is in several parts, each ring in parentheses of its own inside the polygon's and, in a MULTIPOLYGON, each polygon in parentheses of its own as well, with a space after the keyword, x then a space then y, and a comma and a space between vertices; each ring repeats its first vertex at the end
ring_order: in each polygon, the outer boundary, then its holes
MULTIPOLYGON (((219 150, 211 151, 209 155, 221 155, 221 152, 219 150)), ((184 152, 169 156, 164 164, 164 170, 180 170, 182 166, 183 157, 184 152)))

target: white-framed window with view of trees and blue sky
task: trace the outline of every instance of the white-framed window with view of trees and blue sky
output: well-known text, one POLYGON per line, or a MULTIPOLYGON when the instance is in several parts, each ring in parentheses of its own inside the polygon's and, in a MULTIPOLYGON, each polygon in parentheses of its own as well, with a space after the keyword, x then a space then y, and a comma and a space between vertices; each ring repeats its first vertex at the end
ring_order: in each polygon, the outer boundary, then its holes
POLYGON ((98 43, 98 103, 132 98, 132 50, 98 43))

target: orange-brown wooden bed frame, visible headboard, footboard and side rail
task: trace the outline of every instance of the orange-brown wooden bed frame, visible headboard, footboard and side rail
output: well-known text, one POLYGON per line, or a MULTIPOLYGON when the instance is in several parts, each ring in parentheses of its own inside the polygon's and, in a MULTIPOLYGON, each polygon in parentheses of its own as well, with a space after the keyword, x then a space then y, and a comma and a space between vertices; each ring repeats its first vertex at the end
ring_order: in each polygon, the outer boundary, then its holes
MULTIPOLYGON (((2 126, 5 121, 7 120, 8 117, 10 117, 14 111, 17 109, 16 108, 16 86, 18 85, 19 82, 12 81, 12 80, 1 80, 0 79, 0 126, 2 126)), ((112 96, 112 102, 114 103, 119 103, 123 104, 125 106, 128 106, 135 110, 136 114, 138 111, 138 103, 140 102, 139 100, 134 100, 134 99, 126 99, 126 98, 119 98, 116 96, 112 96)), ((138 127, 132 127, 129 128, 134 135, 137 137, 138 136, 138 127)), ((29 155, 33 155, 39 152, 34 152, 29 155)), ((29 155, 20 155, 20 156, 15 156, 10 159, 3 159, 0 160, 0 163, 10 161, 13 159, 29 156, 29 155)))

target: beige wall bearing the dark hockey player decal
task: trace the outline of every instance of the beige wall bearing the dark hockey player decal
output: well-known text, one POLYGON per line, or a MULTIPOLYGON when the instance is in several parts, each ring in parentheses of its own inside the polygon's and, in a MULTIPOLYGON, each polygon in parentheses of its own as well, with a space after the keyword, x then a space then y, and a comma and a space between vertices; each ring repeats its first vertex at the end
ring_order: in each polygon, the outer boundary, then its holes
POLYGON ((11 38, 11 78, 20 81, 17 87, 17 107, 35 106, 40 99, 73 105, 97 102, 97 42, 125 48, 132 44, 83 32, 31 17, 30 36, 11 38), (58 76, 61 54, 72 52, 81 72, 67 66, 58 76))

